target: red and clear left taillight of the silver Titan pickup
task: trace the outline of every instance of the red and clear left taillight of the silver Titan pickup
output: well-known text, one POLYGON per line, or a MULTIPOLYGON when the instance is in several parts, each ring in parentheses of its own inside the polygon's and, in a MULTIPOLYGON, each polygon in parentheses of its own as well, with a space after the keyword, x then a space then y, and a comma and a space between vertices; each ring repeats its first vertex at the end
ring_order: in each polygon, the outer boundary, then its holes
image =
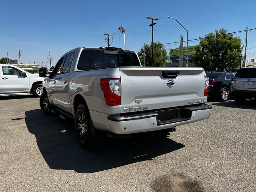
POLYGON ((103 90, 107 105, 121 105, 120 78, 101 79, 100 88, 103 90))

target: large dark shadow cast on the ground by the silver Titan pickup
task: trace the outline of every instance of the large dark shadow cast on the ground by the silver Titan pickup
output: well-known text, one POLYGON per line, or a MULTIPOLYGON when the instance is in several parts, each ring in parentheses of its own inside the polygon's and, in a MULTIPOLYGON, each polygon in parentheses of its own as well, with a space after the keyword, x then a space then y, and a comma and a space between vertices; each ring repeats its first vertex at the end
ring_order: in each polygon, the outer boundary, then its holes
MULTIPOLYGON (((104 138, 98 150, 88 152, 78 143, 73 120, 46 116, 40 109, 26 111, 25 115, 28 130, 36 136, 38 148, 52 169, 92 173, 150 161, 185 147, 170 140, 168 133, 144 133, 130 138, 104 138)), ((154 164, 154 160, 151 162, 154 164)))

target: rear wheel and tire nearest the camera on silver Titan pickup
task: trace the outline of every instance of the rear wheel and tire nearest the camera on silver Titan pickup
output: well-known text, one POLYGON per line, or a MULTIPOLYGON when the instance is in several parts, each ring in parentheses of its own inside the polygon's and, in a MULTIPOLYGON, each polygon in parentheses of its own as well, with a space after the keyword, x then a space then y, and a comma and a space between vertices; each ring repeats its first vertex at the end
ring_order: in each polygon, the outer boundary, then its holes
POLYGON ((76 134, 81 146, 86 150, 94 150, 100 146, 102 138, 93 126, 89 110, 84 104, 79 104, 75 116, 76 134))

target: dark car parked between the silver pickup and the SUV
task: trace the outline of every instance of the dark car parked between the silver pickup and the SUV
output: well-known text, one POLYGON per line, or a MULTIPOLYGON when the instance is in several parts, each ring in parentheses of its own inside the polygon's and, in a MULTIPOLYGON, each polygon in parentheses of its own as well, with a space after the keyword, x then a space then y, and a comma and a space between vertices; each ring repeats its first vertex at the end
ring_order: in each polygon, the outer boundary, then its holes
POLYGON ((230 95, 231 78, 234 72, 207 72, 209 77, 209 97, 220 98, 222 101, 228 100, 230 95))

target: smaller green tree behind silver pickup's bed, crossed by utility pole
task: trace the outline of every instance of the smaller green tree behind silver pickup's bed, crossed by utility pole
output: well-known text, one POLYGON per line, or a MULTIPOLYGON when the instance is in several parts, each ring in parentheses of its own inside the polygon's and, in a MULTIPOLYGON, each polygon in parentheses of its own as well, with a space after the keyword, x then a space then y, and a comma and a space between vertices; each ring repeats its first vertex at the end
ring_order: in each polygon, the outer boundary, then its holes
MULTIPOLYGON (((138 56, 140 58, 140 62, 142 65, 144 65, 144 49, 145 49, 145 65, 146 66, 152 66, 151 62, 151 44, 146 44, 145 47, 143 46, 138 51, 138 56)), ((160 42, 154 42, 153 43, 153 49, 154 49, 154 55, 156 56, 156 67, 164 67, 169 61, 169 56, 167 54, 166 49, 164 48, 164 45, 160 42), (156 51, 156 53, 155 53, 156 51)))

